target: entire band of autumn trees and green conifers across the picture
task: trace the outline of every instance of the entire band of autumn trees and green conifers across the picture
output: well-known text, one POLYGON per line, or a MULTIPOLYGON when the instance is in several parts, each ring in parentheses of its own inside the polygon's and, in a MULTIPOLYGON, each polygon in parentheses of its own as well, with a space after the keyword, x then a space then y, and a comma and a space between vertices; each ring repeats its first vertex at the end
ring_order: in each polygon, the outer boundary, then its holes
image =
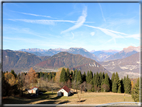
MULTIPOLYGON (((11 70, 11 72, 2 72, 2 96, 10 96, 16 94, 23 94, 24 88, 30 88, 31 84, 42 84, 45 82, 54 82, 56 72, 35 72, 33 68, 27 73, 21 72, 18 75, 11 70), (23 88, 24 87, 24 88, 23 88)), ((132 81, 128 77, 119 78, 118 73, 113 73, 110 78, 107 73, 81 73, 80 70, 69 70, 69 68, 62 68, 60 74, 59 85, 62 87, 67 85, 69 88, 82 91, 91 92, 114 92, 114 93, 128 93, 132 94, 134 101, 139 101, 139 78, 137 83, 132 86, 132 81)), ((41 85, 39 85, 41 86, 41 85)))

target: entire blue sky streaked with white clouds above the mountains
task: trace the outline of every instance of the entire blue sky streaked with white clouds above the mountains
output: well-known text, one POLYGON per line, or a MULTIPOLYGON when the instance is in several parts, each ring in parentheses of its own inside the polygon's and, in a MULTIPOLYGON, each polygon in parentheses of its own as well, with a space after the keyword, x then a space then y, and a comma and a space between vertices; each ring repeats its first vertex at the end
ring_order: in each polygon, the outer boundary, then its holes
POLYGON ((4 3, 3 49, 140 46, 139 3, 4 3))

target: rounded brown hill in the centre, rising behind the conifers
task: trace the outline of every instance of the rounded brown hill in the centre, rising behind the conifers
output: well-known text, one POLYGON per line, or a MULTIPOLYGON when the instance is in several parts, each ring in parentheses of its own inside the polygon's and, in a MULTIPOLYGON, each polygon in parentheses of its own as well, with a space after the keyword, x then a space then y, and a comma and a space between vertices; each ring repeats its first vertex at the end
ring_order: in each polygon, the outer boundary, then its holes
POLYGON ((58 69, 60 67, 66 67, 71 69, 78 69, 81 72, 107 72, 109 76, 111 73, 104 69, 99 63, 90 58, 83 57, 79 54, 70 54, 68 52, 60 52, 46 61, 40 62, 34 66, 35 68, 44 69, 58 69))

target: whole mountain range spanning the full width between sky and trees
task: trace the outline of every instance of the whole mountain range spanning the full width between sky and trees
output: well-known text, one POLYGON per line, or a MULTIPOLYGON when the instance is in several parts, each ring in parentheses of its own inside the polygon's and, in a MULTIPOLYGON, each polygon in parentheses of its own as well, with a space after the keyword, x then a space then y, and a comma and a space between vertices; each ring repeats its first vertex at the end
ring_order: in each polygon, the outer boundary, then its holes
POLYGON ((134 77, 139 74, 139 53, 140 47, 133 46, 122 51, 91 52, 83 48, 3 50, 3 71, 14 69, 18 73, 33 67, 35 71, 56 72, 60 67, 68 67, 70 70, 107 72, 109 75, 113 72, 121 76, 130 73, 134 77))

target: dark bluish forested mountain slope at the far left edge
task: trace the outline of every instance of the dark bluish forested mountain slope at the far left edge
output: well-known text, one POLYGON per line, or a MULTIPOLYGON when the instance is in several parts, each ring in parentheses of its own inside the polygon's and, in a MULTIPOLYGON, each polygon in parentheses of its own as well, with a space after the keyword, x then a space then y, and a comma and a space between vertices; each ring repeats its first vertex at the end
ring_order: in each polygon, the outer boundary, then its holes
POLYGON ((11 71, 11 69, 15 72, 25 71, 41 61, 39 57, 31 53, 3 50, 3 71, 11 71))

